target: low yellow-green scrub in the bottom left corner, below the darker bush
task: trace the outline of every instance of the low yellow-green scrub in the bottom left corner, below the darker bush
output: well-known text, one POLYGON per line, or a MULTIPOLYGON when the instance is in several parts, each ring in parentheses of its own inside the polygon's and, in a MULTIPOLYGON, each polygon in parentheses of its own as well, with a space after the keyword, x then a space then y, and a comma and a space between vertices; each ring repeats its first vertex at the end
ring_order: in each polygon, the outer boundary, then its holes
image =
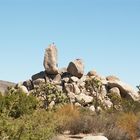
POLYGON ((1 117, 0 139, 7 140, 51 140, 56 134, 53 113, 36 110, 32 115, 18 119, 1 117))

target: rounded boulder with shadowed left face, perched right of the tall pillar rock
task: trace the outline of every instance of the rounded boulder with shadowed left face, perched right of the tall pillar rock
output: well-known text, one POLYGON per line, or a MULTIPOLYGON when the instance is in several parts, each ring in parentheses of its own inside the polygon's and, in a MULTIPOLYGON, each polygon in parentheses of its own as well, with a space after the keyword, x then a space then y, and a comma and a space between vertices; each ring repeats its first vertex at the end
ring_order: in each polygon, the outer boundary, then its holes
POLYGON ((81 59, 76 59, 69 63, 67 71, 78 78, 81 78, 84 74, 84 63, 81 59))

